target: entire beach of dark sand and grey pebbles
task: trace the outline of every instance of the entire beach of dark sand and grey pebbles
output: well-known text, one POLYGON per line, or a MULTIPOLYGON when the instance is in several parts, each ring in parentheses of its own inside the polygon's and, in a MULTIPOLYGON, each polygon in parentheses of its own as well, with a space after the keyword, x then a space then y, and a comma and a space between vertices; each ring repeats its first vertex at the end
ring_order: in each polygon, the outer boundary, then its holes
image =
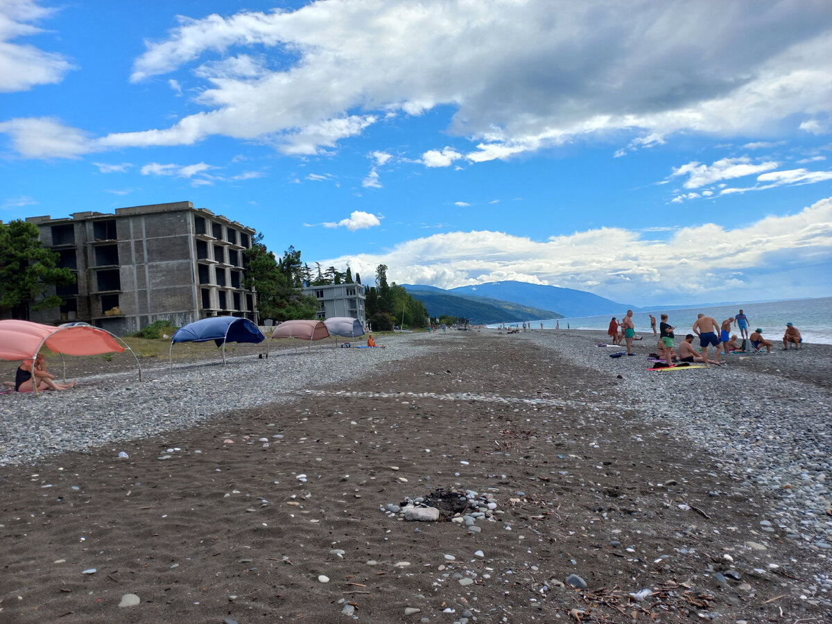
POLYGON ((0 396, 0 621, 832 621, 832 347, 602 338, 73 360, 0 396))

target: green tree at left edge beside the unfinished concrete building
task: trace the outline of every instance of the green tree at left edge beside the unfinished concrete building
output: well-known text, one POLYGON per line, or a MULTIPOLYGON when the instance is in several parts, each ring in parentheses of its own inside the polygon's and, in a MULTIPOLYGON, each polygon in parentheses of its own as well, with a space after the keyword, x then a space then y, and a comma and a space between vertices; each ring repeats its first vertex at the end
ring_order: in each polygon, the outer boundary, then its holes
POLYGON ((71 270, 57 266, 60 257, 43 246, 37 225, 24 220, 0 223, 0 318, 32 300, 32 310, 62 304, 57 295, 44 296, 49 285, 75 283, 71 270))

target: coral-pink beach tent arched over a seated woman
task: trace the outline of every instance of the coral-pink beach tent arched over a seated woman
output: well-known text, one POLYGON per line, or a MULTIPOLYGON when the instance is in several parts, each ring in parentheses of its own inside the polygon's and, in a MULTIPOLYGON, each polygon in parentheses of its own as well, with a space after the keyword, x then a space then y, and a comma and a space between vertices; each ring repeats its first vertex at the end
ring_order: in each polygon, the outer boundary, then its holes
MULTIPOLYGON (((46 345, 52 353, 62 356, 65 354, 123 353, 127 349, 136 358, 139 381, 141 381, 141 364, 136 354, 133 353, 133 349, 106 329, 93 327, 87 323, 67 323, 55 327, 27 320, 0 320, 0 358, 31 359, 33 363, 43 345, 46 345)), ((66 377, 66 364, 64 364, 64 379, 66 377)), ((35 394, 37 394, 37 388, 35 394)))

